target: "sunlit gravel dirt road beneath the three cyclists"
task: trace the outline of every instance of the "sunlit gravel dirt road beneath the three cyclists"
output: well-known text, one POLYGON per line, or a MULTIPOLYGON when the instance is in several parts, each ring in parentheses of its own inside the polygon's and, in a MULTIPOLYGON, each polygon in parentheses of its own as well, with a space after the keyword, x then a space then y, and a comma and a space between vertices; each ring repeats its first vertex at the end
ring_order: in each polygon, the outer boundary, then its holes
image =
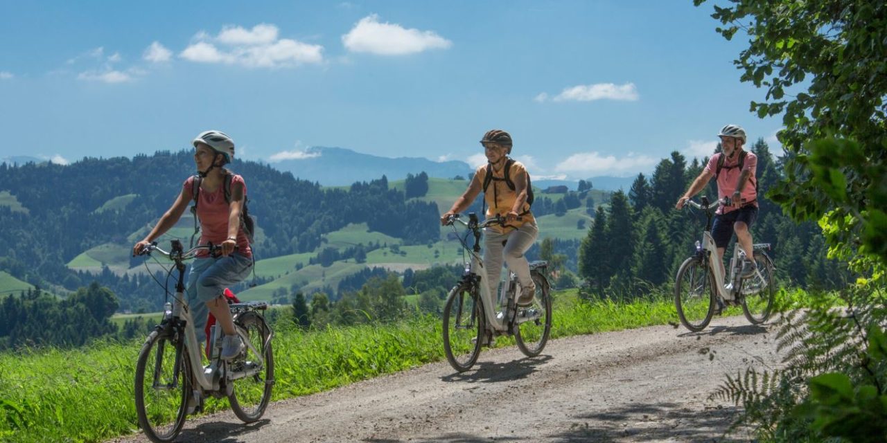
POLYGON ((178 441, 746 441, 723 435, 733 405, 708 397, 727 373, 777 366, 773 336, 773 326, 730 317, 698 333, 657 326, 553 340, 534 359, 485 349, 463 374, 443 361, 273 403, 255 424, 200 417, 178 441))

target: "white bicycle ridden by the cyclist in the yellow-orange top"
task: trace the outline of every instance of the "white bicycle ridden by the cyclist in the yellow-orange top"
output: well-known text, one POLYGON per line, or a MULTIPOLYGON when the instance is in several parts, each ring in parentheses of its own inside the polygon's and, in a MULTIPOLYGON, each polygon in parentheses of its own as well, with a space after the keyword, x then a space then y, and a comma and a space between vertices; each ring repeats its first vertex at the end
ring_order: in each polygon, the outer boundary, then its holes
POLYGON ((481 354, 481 346, 490 344, 495 336, 514 335, 517 347, 528 357, 542 352, 552 328, 552 300, 545 272, 546 261, 530 262, 530 276, 536 284, 533 302, 528 307, 516 305, 517 277, 510 273, 501 284, 498 307, 487 284, 487 273, 481 257, 481 232, 483 228, 498 224, 505 219, 495 218, 478 221, 477 215, 468 214, 468 222, 459 214, 451 216, 447 224, 459 222, 474 234, 475 244, 467 245, 465 237, 459 237, 462 247, 470 254, 465 274, 459 284, 450 291, 443 307, 443 350, 447 361, 459 372, 471 369, 481 354))

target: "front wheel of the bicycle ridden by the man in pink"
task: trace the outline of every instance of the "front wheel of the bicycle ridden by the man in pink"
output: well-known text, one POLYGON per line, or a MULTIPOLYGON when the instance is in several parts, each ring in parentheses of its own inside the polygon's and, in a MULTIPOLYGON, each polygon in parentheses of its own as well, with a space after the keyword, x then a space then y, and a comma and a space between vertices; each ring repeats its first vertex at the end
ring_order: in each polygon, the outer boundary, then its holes
POLYGON ((708 266, 696 257, 684 260, 674 286, 674 304, 680 323, 688 330, 705 329, 715 312, 714 277, 708 266))

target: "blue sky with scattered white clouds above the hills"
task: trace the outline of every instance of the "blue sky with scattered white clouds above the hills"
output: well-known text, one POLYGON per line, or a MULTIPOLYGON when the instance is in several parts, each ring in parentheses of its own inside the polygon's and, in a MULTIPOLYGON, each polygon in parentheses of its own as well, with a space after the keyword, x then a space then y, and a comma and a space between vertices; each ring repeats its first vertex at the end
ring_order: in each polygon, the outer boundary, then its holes
POLYGON ((778 151, 747 39, 686 1, 0 0, 0 158, 178 150, 208 128, 244 159, 340 146, 476 163, 490 128, 535 177, 648 173, 726 123, 778 151))

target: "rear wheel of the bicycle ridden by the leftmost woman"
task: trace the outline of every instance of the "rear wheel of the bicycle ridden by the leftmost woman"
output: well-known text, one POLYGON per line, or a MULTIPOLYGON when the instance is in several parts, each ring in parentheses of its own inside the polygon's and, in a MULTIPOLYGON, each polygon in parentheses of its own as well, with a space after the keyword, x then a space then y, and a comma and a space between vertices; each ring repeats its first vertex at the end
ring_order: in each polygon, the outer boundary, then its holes
POLYGON ((274 354, 271 352, 271 330, 255 312, 239 315, 234 321, 241 338, 246 337, 244 354, 233 360, 228 370, 233 375, 243 375, 232 383, 228 401, 234 415, 244 423, 253 423, 265 413, 271 400, 274 385, 274 354))

